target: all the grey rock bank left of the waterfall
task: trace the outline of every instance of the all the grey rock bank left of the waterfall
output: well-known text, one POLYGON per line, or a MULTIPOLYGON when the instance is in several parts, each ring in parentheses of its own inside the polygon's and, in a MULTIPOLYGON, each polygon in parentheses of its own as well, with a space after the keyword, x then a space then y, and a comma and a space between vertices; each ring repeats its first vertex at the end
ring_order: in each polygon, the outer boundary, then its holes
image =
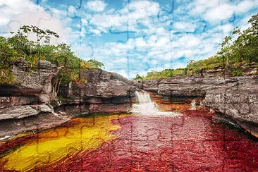
POLYGON ((16 85, 0 85, 0 137, 54 128, 81 113, 130 111, 133 82, 121 75, 82 71, 85 82, 61 87, 59 100, 51 83, 57 73, 49 61, 39 61, 37 70, 27 68, 25 60, 14 63, 16 85))

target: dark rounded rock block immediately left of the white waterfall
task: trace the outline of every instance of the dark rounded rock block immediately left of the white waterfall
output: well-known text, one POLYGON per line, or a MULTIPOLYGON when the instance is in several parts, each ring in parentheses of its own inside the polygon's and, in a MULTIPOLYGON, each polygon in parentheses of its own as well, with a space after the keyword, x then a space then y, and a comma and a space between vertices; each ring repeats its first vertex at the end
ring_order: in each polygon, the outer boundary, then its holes
POLYGON ((133 82, 105 70, 80 72, 83 82, 61 87, 65 99, 57 102, 56 111, 66 113, 128 112, 133 102, 133 82))

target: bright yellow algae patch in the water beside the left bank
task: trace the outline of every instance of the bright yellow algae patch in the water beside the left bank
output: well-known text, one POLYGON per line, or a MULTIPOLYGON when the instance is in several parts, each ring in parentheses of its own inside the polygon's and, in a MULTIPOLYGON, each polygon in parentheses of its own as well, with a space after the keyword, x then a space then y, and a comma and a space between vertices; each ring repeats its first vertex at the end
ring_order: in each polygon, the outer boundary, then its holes
POLYGON ((39 166, 49 165, 65 156, 99 147, 103 142, 116 137, 110 133, 119 125, 113 125, 112 119, 122 116, 97 116, 90 118, 75 118, 78 124, 68 128, 56 128, 39 133, 38 138, 19 149, 7 154, 0 163, 6 170, 31 171, 39 166))

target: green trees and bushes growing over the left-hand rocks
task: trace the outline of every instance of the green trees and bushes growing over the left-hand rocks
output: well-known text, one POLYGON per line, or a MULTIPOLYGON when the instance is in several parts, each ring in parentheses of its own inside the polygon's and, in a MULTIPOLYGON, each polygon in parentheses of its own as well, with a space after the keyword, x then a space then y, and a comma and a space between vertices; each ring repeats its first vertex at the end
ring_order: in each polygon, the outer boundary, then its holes
MULTIPOLYGON (((59 74, 54 78, 54 87, 59 91, 60 85, 68 82, 80 82, 80 70, 96 70, 103 63, 90 59, 82 60, 75 56, 68 44, 51 44, 52 38, 59 38, 56 32, 42 30, 36 26, 24 25, 12 37, 0 37, 0 84, 14 84, 15 77, 11 73, 13 63, 25 59, 29 70, 37 70, 39 60, 47 60, 59 67, 59 74), (36 41, 28 39, 28 35, 37 37, 36 41)), ((85 81, 84 81, 85 82, 85 81)))

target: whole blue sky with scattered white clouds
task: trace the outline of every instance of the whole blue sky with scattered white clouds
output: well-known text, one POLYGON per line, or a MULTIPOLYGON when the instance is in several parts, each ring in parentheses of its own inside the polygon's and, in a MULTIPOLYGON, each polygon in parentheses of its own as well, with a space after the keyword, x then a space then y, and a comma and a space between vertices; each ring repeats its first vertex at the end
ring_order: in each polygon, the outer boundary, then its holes
POLYGON ((37 25, 81 59, 132 79, 207 59, 233 28, 248 27, 258 0, 1 0, 0 35, 37 25))

